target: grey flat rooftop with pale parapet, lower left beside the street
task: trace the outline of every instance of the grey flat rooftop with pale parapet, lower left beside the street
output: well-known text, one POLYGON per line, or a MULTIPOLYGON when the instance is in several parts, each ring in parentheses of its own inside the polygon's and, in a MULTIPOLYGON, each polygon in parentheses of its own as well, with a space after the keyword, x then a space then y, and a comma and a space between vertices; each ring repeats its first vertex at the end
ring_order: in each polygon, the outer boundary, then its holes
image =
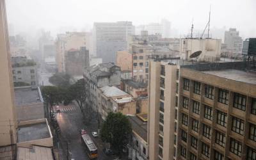
POLYGON ((51 138, 50 132, 46 122, 38 124, 21 125, 18 130, 17 142, 40 140, 44 138, 51 138))

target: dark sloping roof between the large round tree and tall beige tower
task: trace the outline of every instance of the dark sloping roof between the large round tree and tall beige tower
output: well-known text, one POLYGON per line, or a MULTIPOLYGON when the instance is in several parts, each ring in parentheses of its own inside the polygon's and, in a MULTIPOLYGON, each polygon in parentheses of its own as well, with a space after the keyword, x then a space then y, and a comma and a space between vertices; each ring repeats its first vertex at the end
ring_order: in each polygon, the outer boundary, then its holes
POLYGON ((147 122, 143 122, 138 116, 127 116, 132 125, 132 131, 136 132, 144 141, 147 141, 147 122))

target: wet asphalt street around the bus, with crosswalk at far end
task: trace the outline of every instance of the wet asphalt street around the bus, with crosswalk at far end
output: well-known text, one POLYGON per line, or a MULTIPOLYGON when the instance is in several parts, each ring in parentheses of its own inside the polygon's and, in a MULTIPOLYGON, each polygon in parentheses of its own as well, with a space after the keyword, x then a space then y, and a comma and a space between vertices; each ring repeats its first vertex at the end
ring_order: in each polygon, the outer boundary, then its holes
MULTIPOLYGON (((56 114, 56 119, 58 120, 58 124, 61 129, 61 136, 68 141, 69 148, 72 153, 72 159, 89 159, 85 148, 82 145, 81 136, 79 133, 80 129, 85 129, 88 132, 94 141, 95 145, 98 148, 98 158, 103 160, 111 160, 114 157, 106 156, 102 153, 102 148, 104 148, 104 143, 100 140, 100 138, 93 138, 92 131, 97 131, 97 121, 92 120, 90 125, 85 125, 83 122, 83 116, 80 111, 80 108, 75 104, 70 104, 68 106, 60 106, 59 107, 61 113, 56 114)), ((65 141, 61 141, 61 143, 65 144, 65 141)))

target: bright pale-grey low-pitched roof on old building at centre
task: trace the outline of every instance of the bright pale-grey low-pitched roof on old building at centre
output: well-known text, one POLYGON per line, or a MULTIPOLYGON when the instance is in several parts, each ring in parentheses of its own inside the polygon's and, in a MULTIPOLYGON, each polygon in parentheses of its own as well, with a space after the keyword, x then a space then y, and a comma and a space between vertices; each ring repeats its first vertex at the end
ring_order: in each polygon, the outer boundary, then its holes
POLYGON ((100 90, 102 90, 103 94, 106 95, 106 97, 119 97, 129 95, 128 93, 125 93, 124 91, 116 88, 115 86, 104 86, 100 88, 100 90))

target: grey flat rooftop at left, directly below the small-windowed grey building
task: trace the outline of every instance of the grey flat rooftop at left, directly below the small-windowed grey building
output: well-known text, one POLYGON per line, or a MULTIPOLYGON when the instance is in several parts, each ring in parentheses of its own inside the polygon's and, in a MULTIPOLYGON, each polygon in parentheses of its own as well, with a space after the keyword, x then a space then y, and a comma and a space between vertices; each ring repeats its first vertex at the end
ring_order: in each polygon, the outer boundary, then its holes
POLYGON ((29 104, 35 102, 44 102, 39 88, 31 89, 27 88, 15 88, 15 104, 29 104))

